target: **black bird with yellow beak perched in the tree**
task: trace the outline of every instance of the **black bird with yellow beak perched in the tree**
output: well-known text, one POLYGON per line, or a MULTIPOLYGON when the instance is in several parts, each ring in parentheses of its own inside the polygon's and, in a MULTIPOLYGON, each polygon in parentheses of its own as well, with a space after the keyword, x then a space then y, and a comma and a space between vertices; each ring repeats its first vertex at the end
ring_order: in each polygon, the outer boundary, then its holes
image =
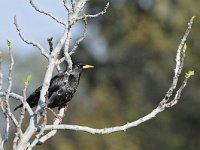
MULTIPOLYGON (((48 108, 58 107, 58 110, 65 107, 73 98, 79 84, 80 75, 84 69, 93 68, 94 66, 86 64, 74 64, 72 72, 69 74, 67 70, 54 76, 50 81, 48 89, 48 108)), ((31 108, 38 105, 40 98, 40 90, 38 87, 27 99, 27 103, 31 108)), ((23 104, 17 106, 14 111, 22 107, 23 104)))

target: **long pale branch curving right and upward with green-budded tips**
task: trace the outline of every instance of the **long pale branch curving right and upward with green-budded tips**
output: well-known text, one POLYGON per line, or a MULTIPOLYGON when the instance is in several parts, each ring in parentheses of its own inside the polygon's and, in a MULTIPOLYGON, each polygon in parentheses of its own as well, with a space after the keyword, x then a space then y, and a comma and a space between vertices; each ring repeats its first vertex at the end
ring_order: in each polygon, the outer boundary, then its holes
MULTIPOLYGON (((191 29, 192 21, 193 21, 193 18, 189 22, 189 27, 188 27, 189 31, 191 29)), ((186 38, 189 34, 188 29, 186 30, 187 32, 183 37, 183 39, 185 38, 185 40, 186 40, 186 38)), ((183 44, 184 44, 184 42, 183 42, 183 44)), ((179 78, 179 75, 181 74, 182 67, 184 65, 186 45, 184 46, 184 48, 182 50, 183 44, 181 46, 181 49, 178 48, 178 50, 177 50, 176 68, 178 68, 178 72, 176 73, 176 71, 175 71, 175 77, 177 78, 177 80, 179 78)), ((104 128, 104 129, 95 129, 95 128, 90 128, 90 127, 86 127, 86 126, 65 125, 65 124, 62 124, 62 125, 46 125, 45 129, 46 130, 58 130, 58 129, 65 129, 66 130, 67 129, 67 130, 75 130, 75 131, 84 131, 84 132, 88 132, 88 133, 91 133, 91 134, 109 134, 109 133, 112 133, 112 132, 126 131, 127 129, 129 129, 131 127, 138 126, 139 124, 156 117, 157 114, 164 111, 166 108, 174 106, 178 102, 178 100, 180 99, 181 92, 185 88, 188 78, 193 74, 194 74, 193 71, 190 71, 189 73, 186 74, 182 85, 177 90, 177 93, 176 93, 174 99, 171 102, 166 103, 167 101, 165 99, 162 100, 160 102, 159 106, 156 109, 154 109, 152 112, 150 112, 146 116, 139 118, 138 120, 133 121, 131 123, 127 123, 127 124, 122 125, 122 126, 116 126, 116 127, 104 128)))

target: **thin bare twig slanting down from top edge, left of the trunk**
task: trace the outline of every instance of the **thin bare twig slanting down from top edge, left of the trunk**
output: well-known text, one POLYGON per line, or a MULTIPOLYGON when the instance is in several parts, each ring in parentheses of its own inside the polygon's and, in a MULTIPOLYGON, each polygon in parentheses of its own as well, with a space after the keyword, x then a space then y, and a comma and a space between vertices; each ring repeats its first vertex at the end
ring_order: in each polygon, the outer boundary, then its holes
POLYGON ((66 26, 66 23, 60 19, 58 19, 57 17, 55 17, 54 15, 52 15, 50 12, 46 12, 45 10, 39 9, 34 3, 33 0, 29 0, 31 6, 39 13, 45 14, 49 17, 51 17, 53 20, 55 20, 57 23, 62 24, 63 26, 66 26))

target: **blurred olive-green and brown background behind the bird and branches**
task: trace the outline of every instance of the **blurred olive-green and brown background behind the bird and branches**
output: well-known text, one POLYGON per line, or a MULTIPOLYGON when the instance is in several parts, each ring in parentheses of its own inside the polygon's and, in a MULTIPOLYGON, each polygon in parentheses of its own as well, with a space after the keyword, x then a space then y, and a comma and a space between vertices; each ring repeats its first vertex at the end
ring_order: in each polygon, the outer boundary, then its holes
MULTIPOLYGON (((106 2, 89 1, 87 12, 102 10, 106 2)), ((35 149, 200 149, 199 6, 199 0, 110 0, 104 16, 89 20, 88 37, 73 56, 74 62, 95 68, 83 73, 63 123, 104 128, 151 112, 171 85, 176 50, 194 15, 197 17, 186 42, 188 50, 181 79, 190 69, 195 70, 195 76, 177 105, 138 127, 109 135, 58 131, 35 149)), ((5 61, 6 57, 7 53, 5 61)), ((47 62, 37 51, 27 57, 15 53, 15 61, 14 91, 20 93, 25 76, 32 74, 28 90, 31 93, 41 84, 47 62)))

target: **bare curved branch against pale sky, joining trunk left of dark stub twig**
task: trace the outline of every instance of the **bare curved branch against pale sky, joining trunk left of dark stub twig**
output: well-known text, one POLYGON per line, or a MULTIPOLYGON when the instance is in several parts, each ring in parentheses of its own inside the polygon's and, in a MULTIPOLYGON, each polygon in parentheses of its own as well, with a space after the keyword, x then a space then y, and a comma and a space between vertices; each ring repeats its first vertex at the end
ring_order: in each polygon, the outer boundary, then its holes
POLYGON ((14 25, 15 25, 15 27, 16 27, 16 29, 17 29, 17 31, 18 31, 18 33, 19 33, 19 36, 20 36, 20 38, 22 39, 22 41, 24 41, 25 43, 27 43, 27 44, 29 44, 29 45, 32 45, 32 46, 37 47, 37 48, 40 50, 40 52, 41 52, 41 54, 42 54, 43 56, 45 56, 47 59, 49 58, 49 54, 47 54, 47 53, 45 52, 45 49, 44 49, 39 43, 36 43, 36 42, 34 42, 34 41, 30 41, 30 40, 28 40, 28 39, 26 39, 26 38, 24 37, 24 35, 23 35, 22 31, 21 31, 21 28, 19 27, 19 25, 18 25, 18 23, 17 23, 17 17, 16 17, 16 16, 14 17, 14 25))

